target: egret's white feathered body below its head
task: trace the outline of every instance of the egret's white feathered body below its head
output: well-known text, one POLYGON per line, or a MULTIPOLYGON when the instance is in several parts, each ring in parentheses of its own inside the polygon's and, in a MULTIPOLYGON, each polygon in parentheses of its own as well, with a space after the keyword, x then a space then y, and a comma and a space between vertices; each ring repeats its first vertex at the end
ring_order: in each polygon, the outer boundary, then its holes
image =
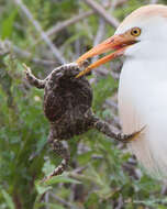
POLYGON ((125 61, 119 111, 124 133, 146 125, 131 151, 152 174, 167 176, 167 61, 125 61))

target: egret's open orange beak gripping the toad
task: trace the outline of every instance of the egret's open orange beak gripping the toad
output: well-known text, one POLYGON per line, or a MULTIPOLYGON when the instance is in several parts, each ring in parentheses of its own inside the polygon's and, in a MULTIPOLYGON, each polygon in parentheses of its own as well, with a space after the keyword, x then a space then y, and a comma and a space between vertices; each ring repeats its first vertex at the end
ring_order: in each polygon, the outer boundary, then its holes
POLYGON ((79 78, 80 76, 84 76, 85 74, 89 73, 91 69, 112 61, 116 57, 120 57, 124 54, 124 51, 131 46, 132 44, 136 43, 136 40, 134 36, 130 35, 129 33, 123 33, 120 35, 113 35, 102 42, 101 44, 94 46, 90 51, 88 51, 86 54, 80 56, 76 63, 79 66, 82 66, 84 62, 90 57, 93 57, 96 55, 100 55, 102 53, 105 53, 108 51, 114 51, 113 53, 100 58, 99 61, 92 63, 89 65, 85 70, 80 72, 76 77, 79 78))

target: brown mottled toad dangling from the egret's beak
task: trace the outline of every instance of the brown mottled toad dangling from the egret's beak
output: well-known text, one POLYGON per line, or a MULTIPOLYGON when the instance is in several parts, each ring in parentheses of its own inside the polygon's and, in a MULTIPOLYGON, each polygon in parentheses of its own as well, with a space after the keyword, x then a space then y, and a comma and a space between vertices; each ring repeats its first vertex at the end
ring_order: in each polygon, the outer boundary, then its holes
POLYGON ((44 80, 37 79, 29 67, 25 65, 24 67, 29 82, 36 88, 44 89, 44 113, 51 125, 48 143, 53 151, 63 158, 60 165, 44 180, 62 174, 68 165, 70 155, 63 145, 63 140, 69 140, 91 128, 122 142, 134 139, 141 132, 130 135, 115 133, 110 124, 92 113, 92 89, 85 76, 76 78, 81 72, 77 64, 70 63, 60 66, 44 80))

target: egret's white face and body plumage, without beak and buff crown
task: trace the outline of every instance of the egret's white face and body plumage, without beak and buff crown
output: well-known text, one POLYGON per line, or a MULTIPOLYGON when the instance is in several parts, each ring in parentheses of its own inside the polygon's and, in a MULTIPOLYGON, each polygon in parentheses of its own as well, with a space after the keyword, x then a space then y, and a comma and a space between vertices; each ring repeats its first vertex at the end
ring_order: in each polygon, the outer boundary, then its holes
POLYGON ((133 26, 140 26, 142 34, 125 52, 119 86, 120 120, 126 134, 146 125, 129 146, 149 173, 167 177, 167 20, 135 16, 125 23, 116 34, 133 26))

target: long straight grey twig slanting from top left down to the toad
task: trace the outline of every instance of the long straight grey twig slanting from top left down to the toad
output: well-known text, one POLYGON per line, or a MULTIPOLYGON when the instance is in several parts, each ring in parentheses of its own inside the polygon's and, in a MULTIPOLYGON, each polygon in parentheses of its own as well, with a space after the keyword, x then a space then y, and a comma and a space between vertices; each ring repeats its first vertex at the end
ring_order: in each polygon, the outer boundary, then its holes
POLYGON ((40 33, 41 38, 47 44, 47 46, 51 48, 53 55, 57 58, 60 64, 65 64, 66 61, 59 53, 56 46, 52 43, 52 41, 48 38, 47 34, 42 30, 40 23, 34 20, 32 13, 30 10, 23 4, 22 0, 14 0, 14 2, 21 8, 23 13, 26 15, 26 18, 32 22, 32 24, 35 26, 36 31, 40 33))

